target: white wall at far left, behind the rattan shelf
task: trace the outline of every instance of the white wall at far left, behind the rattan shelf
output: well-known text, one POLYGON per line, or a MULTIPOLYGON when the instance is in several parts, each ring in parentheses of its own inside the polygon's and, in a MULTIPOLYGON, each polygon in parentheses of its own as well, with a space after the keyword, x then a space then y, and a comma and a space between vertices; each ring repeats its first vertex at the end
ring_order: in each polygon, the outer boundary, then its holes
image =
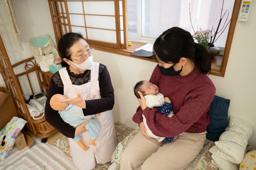
MULTIPOLYGON (((3 39, 7 54, 11 64, 15 64, 21 60, 32 57, 29 48, 29 40, 39 35, 50 34, 55 45, 56 39, 50 14, 50 9, 47 0, 12 0, 16 13, 18 27, 21 32, 20 39, 24 48, 22 51, 15 37, 14 29, 9 17, 9 12, 5 5, 5 0, 0 0, 0 34, 3 39)), ((16 74, 24 72, 24 66, 16 67, 16 74)), ((30 79, 36 76, 31 73, 30 79)), ((32 94, 26 79, 20 78, 20 84, 26 98, 32 94)), ((35 80, 35 79, 34 79, 35 80)), ((2 76, 0 76, 0 86, 4 86, 2 76)), ((32 82, 34 92, 39 92, 38 82, 32 82)))

